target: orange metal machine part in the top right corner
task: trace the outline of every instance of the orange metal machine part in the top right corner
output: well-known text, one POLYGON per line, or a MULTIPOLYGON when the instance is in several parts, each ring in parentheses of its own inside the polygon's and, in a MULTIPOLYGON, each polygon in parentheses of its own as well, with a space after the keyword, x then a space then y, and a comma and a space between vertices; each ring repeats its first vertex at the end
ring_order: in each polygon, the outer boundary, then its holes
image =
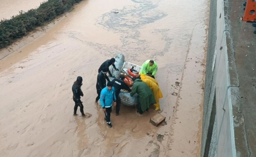
POLYGON ((242 21, 256 21, 256 0, 247 0, 242 21))

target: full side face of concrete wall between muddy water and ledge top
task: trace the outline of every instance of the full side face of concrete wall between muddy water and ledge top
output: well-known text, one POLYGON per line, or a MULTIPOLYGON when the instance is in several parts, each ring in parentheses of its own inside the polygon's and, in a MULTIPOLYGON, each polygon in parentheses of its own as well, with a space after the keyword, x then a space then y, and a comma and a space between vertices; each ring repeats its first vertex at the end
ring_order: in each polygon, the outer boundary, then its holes
POLYGON ((210 17, 209 39, 212 35, 216 40, 208 40, 208 45, 215 46, 208 47, 207 52, 201 156, 234 157, 236 148, 226 44, 226 31, 229 30, 225 27, 223 0, 212 0, 210 17), (211 27, 213 24, 216 28, 211 27))

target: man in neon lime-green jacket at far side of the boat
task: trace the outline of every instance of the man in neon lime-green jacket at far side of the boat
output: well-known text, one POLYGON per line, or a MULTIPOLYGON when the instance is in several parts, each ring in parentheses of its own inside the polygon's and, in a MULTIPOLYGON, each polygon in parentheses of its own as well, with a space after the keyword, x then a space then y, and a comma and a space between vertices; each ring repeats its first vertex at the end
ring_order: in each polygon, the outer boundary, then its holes
POLYGON ((147 60, 141 65, 140 74, 148 75, 155 79, 157 73, 157 63, 153 60, 147 60))

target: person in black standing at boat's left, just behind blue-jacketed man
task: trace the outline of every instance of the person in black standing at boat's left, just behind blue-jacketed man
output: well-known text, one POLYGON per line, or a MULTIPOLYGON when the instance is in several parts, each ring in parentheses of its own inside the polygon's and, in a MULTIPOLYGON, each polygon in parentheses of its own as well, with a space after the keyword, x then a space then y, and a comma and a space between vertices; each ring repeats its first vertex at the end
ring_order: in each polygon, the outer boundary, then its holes
POLYGON ((96 100, 95 100, 96 104, 98 104, 101 90, 106 87, 106 79, 108 82, 110 81, 107 76, 107 73, 108 73, 108 68, 103 67, 97 76, 96 90, 97 90, 98 96, 96 97, 96 100))

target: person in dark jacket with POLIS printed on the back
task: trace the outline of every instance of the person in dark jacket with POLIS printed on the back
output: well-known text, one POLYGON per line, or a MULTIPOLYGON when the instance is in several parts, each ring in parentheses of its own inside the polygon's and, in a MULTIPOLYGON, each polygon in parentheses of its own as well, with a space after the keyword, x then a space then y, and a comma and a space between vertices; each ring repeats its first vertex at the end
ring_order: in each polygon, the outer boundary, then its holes
POLYGON ((116 115, 119 115, 121 98, 119 96, 120 90, 124 89, 128 92, 132 92, 130 87, 124 82, 124 75, 120 75, 120 79, 113 79, 111 82, 113 83, 113 87, 115 87, 116 98, 117 98, 117 106, 116 106, 116 115))

